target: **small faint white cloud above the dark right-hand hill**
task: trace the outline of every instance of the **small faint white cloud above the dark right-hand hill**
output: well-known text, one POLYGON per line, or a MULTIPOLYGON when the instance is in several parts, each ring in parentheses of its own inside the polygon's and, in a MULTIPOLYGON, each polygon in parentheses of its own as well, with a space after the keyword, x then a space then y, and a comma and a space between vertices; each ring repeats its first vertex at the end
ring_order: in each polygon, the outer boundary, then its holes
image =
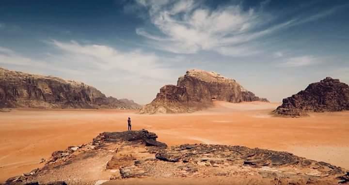
POLYGON ((315 65, 318 63, 324 62, 322 59, 316 58, 311 55, 305 55, 301 57, 293 57, 286 59, 285 62, 281 63, 282 67, 301 67, 308 65, 315 65))

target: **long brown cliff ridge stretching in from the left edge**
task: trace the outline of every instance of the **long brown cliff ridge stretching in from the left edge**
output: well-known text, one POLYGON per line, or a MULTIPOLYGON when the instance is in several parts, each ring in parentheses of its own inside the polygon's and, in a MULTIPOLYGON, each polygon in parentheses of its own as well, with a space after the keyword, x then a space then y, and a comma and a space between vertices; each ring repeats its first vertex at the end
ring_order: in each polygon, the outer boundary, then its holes
POLYGON ((0 108, 142 108, 92 86, 0 68, 0 108))

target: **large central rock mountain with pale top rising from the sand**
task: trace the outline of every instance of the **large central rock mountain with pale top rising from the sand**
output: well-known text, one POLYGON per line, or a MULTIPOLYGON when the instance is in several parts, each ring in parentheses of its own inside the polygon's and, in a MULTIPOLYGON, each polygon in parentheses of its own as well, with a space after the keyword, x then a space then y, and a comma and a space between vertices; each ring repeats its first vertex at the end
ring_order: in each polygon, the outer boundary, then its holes
POLYGON ((189 70, 178 78, 177 85, 163 86, 157 97, 140 113, 193 112, 209 107, 212 100, 232 103, 268 101, 245 90, 234 79, 215 72, 189 70))

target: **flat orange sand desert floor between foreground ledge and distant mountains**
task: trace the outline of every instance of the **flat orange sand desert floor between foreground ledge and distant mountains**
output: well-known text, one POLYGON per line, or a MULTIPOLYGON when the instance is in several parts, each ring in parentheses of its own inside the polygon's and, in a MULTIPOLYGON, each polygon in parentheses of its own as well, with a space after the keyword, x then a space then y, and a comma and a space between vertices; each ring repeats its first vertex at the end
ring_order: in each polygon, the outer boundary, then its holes
POLYGON ((272 117, 278 103, 216 102, 191 114, 140 115, 121 110, 15 109, 0 112, 0 183, 41 167, 56 150, 87 143, 104 131, 155 132, 168 145, 228 144, 287 151, 349 169, 349 111, 272 117))

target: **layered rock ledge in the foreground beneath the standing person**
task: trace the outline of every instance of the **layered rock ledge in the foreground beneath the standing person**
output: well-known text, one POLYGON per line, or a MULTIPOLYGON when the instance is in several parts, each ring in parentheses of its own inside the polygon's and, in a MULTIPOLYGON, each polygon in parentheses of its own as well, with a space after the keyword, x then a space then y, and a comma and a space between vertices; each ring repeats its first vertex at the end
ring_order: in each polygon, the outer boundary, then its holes
MULTIPOLYGON (((6 185, 117 184, 128 178, 224 178, 229 184, 338 184, 349 172, 287 152, 184 144, 168 148, 147 130, 104 132, 88 144, 52 153, 47 164, 6 185)), ((196 181, 198 182, 198 181, 196 181)))

